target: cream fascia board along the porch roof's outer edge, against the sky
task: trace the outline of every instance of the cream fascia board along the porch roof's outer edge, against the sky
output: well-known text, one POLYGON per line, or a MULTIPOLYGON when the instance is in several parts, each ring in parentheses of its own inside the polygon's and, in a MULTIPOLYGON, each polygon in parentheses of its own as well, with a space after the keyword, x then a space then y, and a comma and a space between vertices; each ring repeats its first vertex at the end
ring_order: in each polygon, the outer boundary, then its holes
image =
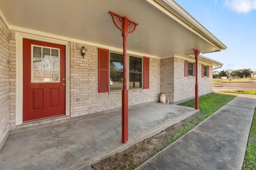
MULTIPOLYGON (((196 31, 195 29, 191 28, 187 23, 185 23, 184 21, 182 21, 180 18, 178 18, 177 16, 175 16, 174 14, 172 14, 169 10, 166 10, 166 8, 164 8, 162 5, 158 4, 155 0, 146 0, 148 3, 150 3, 151 5, 155 6, 156 8, 158 8, 158 10, 162 11, 163 13, 167 14, 168 16, 170 16, 173 20, 177 21, 178 23, 180 23, 181 25, 183 25, 183 27, 187 28, 188 30, 190 30, 191 32, 195 33, 197 36, 199 36, 200 38, 202 38, 203 40, 205 40, 207 43, 211 44, 212 46, 214 46, 215 48, 217 48, 219 51, 221 51, 222 49, 220 47, 218 47, 217 45, 213 44, 212 41, 210 41, 209 39, 205 38, 201 33, 199 33, 198 31, 196 31)), ((164 0, 162 0, 164 1, 164 0)), ((164 1, 164 3, 166 3, 164 1)), ((174 8, 173 6, 171 6, 169 3, 167 3, 170 7, 174 8)), ((174 8, 175 9, 175 8, 174 8)))

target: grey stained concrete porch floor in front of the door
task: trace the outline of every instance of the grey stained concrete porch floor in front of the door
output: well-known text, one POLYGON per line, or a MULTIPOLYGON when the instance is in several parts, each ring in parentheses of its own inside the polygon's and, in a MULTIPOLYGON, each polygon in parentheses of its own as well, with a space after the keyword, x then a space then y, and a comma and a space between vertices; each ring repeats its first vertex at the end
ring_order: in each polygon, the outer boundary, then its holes
POLYGON ((9 135, 1 169, 76 169, 129 148, 195 114, 193 108, 150 103, 129 108, 129 141, 121 142, 121 111, 9 135))

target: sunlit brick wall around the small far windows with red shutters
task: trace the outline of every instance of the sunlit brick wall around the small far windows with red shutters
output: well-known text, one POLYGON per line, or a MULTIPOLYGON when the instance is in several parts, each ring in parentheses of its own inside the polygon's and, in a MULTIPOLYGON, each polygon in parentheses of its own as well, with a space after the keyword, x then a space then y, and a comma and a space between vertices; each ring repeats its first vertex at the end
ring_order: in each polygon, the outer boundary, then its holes
MULTIPOLYGON (((174 57, 174 102, 195 97, 195 77, 184 76, 185 60, 174 57)), ((201 64, 198 64, 198 92, 203 95, 212 92, 212 66, 210 77, 202 78, 201 64)))

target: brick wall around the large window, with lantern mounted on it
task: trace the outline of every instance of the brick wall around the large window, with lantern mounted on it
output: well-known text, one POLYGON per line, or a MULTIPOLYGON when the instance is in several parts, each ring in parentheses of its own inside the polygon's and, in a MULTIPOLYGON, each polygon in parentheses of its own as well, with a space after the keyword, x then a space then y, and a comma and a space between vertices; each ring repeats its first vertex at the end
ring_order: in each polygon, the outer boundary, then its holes
MULTIPOLYGON (((160 60, 150 58, 149 89, 129 90, 129 105, 158 101, 160 92, 160 60)), ((98 93, 98 48, 70 43, 70 115, 79 116, 122 106, 122 91, 98 93), (81 57, 80 49, 87 52, 81 57)))

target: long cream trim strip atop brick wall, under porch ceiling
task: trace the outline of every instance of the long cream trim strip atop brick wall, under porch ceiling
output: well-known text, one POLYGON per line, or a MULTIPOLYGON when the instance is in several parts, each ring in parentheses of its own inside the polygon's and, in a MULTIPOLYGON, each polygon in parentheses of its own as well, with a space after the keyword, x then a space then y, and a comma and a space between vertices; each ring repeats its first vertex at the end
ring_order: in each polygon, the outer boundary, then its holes
MULTIPOLYGON (((84 40, 68 38, 68 37, 58 36, 58 35, 53 35, 51 33, 31 30, 31 29, 22 28, 22 27, 17 27, 17 26, 14 26, 14 25, 10 25, 10 29, 14 30, 14 31, 18 31, 18 32, 29 33, 29 34, 32 34, 32 35, 38 35, 38 36, 49 37, 49 38, 54 38, 54 39, 59 39, 59 40, 72 41, 74 43, 81 43, 81 44, 91 45, 91 46, 100 47, 100 48, 106 48, 106 49, 109 49, 109 50, 113 50, 115 52, 123 53, 123 49, 122 48, 115 48, 115 47, 110 47, 110 46, 106 46, 106 45, 102 45, 102 44, 91 43, 91 42, 84 41, 84 40)), ((133 52, 131 50, 127 50, 127 53, 129 53, 131 55, 147 56, 147 57, 161 59, 160 57, 157 57, 157 56, 148 55, 148 54, 144 54, 144 53, 133 52)))

